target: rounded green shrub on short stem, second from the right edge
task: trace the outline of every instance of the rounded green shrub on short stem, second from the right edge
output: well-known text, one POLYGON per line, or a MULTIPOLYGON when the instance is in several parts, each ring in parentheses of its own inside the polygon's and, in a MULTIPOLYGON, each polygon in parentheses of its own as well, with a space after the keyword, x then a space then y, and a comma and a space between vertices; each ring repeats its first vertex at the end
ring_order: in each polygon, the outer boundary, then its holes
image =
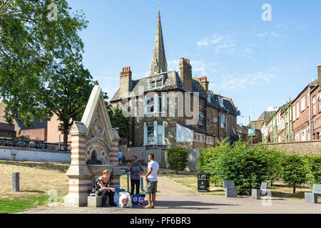
POLYGON ((298 154, 290 154, 282 156, 281 162, 281 177, 288 187, 300 187, 307 182, 307 161, 306 157, 298 154))

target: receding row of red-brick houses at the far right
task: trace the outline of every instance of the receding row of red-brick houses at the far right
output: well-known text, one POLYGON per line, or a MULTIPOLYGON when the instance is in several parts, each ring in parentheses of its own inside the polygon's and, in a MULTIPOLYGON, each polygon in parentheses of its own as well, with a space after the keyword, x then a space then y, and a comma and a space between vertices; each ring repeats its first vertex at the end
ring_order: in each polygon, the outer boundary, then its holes
POLYGON ((321 65, 318 77, 283 105, 263 125, 265 142, 297 142, 321 139, 321 65))

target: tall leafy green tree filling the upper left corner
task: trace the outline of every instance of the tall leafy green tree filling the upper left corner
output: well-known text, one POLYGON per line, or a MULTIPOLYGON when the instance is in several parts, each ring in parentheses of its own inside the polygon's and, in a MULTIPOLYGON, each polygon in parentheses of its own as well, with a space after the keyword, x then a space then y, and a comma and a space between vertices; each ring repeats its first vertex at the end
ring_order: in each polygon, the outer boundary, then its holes
POLYGON ((71 16, 66 0, 0 1, 0 95, 6 121, 19 118, 28 127, 34 118, 56 113, 66 148, 68 130, 79 118, 92 88, 83 68, 83 43, 78 31, 88 21, 71 16), (48 19, 56 4, 57 20, 48 19))

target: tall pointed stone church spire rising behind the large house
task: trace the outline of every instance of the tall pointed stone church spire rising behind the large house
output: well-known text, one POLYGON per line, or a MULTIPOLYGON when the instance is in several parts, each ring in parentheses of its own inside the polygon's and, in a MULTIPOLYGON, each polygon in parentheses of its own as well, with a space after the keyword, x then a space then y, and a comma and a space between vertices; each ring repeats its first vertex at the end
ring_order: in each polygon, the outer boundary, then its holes
POLYGON ((162 72, 167 72, 167 61, 165 57, 161 13, 158 10, 155 47, 153 53, 153 61, 151 64, 151 76, 162 72))

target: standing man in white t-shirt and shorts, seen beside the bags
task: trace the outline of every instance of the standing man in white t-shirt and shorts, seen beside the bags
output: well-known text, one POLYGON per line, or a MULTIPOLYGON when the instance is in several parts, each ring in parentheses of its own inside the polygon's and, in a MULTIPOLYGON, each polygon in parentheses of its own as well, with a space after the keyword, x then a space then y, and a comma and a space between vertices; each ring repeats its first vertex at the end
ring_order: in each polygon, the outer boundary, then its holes
POLYGON ((154 155, 148 155, 148 171, 145 176, 146 189, 145 193, 148 199, 148 205, 145 208, 154 208, 154 203, 156 199, 157 192, 157 175, 159 170, 158 162, 154 161, 154 155))

